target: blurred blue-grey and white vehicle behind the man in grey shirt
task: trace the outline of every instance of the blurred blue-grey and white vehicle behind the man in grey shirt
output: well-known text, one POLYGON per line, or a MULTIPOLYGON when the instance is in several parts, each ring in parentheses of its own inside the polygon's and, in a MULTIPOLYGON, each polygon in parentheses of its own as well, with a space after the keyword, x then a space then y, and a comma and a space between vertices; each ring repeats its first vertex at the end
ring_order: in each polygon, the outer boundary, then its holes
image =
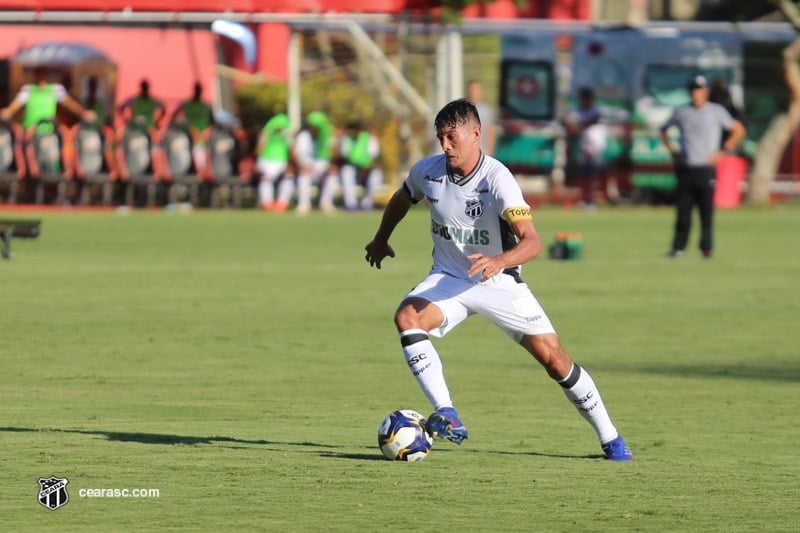
POLYGON ((660 128, 690 102, 688 80, 722 83, 742 109, 741 38, 730 31, 660 26, 577 36, 572 91, 591 87, 609 123, 611 173, 624 194, 655 197, 675 187, 660 128))

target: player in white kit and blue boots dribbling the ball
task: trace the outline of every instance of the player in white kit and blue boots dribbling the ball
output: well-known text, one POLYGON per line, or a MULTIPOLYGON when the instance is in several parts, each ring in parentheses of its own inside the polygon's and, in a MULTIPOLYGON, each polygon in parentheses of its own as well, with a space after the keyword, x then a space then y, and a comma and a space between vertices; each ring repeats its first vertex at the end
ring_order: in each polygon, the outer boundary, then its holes
POLYGON ((443 154, 415 164, 383 213, 366 249, 370 266, 395 253, 389 238, 413 204, 426 199, 431 214, 433 266, 409 292, 394 321, 406 362, 433 405, 430 433, 456 444, 469 435, 453 407, 439 354, 429 335, 442 337, 481 314, 521 344, 562 387, 594 428, 606 458, 629 461, 631 451, 608 415, 589 373, 572 362, 550 319, 520 277, 542 242, 511 172, 480 150, 474 104, 450 102, 436 115, 443 154))

